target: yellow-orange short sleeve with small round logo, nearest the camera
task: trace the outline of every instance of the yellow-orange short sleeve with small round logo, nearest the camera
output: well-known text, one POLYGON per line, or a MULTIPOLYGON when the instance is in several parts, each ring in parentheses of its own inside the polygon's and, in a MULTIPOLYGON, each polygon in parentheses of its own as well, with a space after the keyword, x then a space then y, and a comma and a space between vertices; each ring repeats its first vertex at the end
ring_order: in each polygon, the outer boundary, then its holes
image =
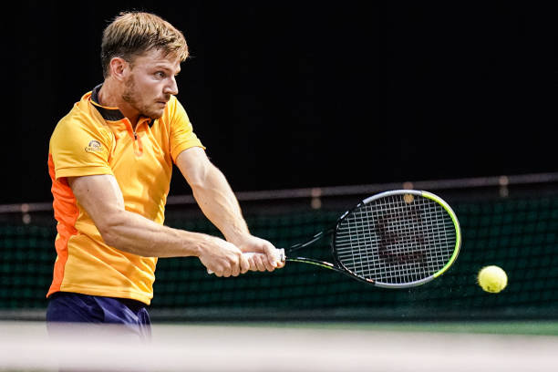
POLYGON ((56 178, 112 174, 111 146, 106 130, 78 120, 61 120, 50 138, 56 178))

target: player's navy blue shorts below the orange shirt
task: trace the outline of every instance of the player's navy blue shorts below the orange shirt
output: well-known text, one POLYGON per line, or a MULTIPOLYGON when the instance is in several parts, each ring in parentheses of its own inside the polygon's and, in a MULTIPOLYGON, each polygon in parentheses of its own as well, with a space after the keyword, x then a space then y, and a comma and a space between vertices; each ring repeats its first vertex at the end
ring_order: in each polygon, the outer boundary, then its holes
POLYGON ((126 333, 141 340, 151 337, 147 305, 127 298, 57 292, 48 301, 48 332, 56 332, 60 323, 123 325, 126 333))

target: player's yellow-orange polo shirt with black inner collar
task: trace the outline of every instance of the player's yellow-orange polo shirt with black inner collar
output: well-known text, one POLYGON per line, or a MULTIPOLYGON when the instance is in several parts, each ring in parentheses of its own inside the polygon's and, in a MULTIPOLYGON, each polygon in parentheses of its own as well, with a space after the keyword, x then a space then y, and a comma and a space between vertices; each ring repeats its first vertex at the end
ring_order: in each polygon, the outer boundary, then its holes
POLYGON ((47 296, 58 291, 131 298, 150 304, 157 258, 119 251, 103 242, 76 201, 67 177, 111 174, 125 208, 164 222, 172 163, 182 150, 202 147, 174 97, 160 119, 140 119, 134 133, 119 109, 97 102, 100 86, 61 119, 50 139, 48 171, 57 219, 57 261, 47 296))

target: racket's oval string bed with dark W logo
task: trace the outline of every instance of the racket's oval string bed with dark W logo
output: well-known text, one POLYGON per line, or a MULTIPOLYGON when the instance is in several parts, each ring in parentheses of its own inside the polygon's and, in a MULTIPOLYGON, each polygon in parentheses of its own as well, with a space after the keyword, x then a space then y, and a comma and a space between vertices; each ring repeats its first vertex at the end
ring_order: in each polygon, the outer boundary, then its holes
POLYGON ((337 259, 357 276, 408 284, 441 270, 453 254, 449 213, 430 199, 391 195, 357 207, 339 223, 337 259))

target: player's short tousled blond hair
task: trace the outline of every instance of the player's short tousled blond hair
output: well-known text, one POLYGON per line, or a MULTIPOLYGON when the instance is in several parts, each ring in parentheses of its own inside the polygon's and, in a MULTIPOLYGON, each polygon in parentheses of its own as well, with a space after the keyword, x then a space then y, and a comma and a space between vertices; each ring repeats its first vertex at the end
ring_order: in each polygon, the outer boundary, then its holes
POLYGON ((174 54, 184 61, 188 45, 181 31, 159 15, 143 12, 120 13, 103 32, 101 64, 103 76, 109 76, 110 60, 120 57, 133 62, 134 57, 156 48, 165 55, 174 54))

